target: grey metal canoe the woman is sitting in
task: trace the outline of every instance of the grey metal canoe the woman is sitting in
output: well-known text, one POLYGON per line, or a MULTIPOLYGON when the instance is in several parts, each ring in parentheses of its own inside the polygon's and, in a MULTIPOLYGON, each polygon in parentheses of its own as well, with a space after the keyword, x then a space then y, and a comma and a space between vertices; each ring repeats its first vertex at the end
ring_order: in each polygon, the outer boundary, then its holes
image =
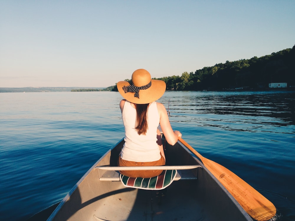
POLYGON ((124 139, 86 172, 47 221, 253 221, 179 141, 171 146, 163 140, 167 165, 164 169, 177 170, 168 187, 159 190, 126 187, 116 167, 123 144, 124 139))

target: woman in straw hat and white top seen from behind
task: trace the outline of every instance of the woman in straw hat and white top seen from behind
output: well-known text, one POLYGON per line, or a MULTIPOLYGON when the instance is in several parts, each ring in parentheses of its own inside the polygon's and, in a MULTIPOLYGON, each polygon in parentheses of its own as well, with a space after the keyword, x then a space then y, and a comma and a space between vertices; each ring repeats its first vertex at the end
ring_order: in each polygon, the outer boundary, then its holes
MULTIPOLYGON (((160 124, 166 141, 174 145, 179 131, 173 131, 166 108, 155 102, 166 90, 162 80, 152 80, 147 70, 138 69, 132 74, 132 83, 117 83, 119 93, 125 98, 120 102, 123 124, 125 127, 125 144, 119 155, 119 166, 162 166, 165 155, 161 143, 160 124)), ((120 171, 128 177, 155 177, 161 170, 120 171)))

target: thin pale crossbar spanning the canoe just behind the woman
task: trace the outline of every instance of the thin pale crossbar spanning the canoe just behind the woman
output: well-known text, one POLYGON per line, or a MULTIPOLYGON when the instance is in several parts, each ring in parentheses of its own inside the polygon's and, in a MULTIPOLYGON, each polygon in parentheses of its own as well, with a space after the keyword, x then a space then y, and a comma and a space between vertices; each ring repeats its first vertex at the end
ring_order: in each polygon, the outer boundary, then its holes
POLYGON ((184 166, 96 166, 94 169, 102 170, 188 170, 202 167, 201 165, 184 165, 184 166))

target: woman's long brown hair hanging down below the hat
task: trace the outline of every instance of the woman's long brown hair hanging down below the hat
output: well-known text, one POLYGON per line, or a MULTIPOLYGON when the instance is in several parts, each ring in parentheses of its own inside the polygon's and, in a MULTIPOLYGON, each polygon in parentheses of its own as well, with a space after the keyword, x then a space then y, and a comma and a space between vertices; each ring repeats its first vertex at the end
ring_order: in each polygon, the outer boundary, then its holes
POLYGON ((135 104, 136 108, 136 121, 135 129, 137 133, 145 135, 148 131, 148 106, 149 104, 135 104))

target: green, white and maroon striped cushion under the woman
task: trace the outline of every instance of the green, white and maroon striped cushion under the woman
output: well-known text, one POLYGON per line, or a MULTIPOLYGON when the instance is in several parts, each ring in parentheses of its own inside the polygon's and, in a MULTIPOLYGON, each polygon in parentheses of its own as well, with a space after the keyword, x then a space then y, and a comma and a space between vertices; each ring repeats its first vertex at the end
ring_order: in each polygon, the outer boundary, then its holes
POLYGON ((163 172, 151 178, 133 178, 120 174, 120 180, 125 187, 138 189, 164 189, 175 179, 177 170, 163 170, 163 172))

